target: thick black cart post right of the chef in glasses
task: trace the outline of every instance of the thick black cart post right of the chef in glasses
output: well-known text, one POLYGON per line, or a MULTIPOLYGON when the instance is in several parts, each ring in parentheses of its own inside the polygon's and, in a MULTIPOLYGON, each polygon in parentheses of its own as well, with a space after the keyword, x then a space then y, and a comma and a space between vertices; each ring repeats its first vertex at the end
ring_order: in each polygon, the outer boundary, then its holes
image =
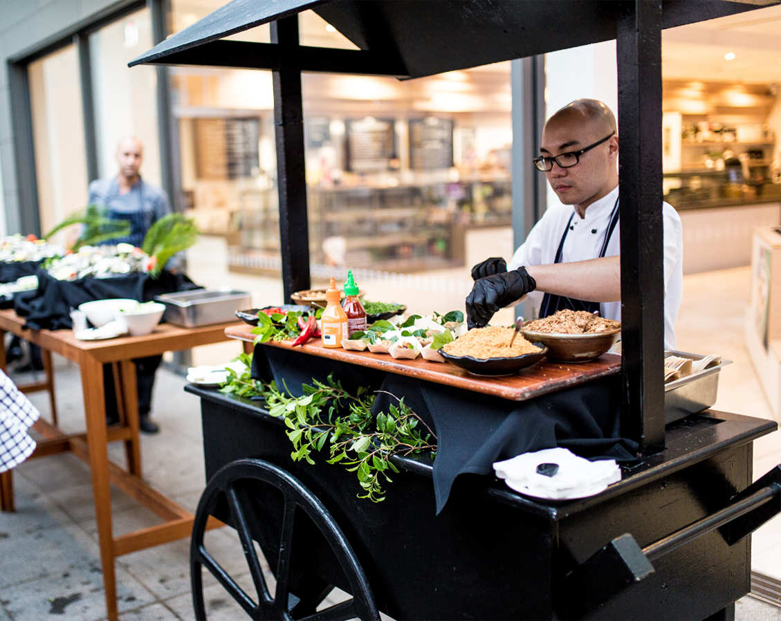
POLYGON ((623 404, 621 433, 647 455, 665 447, 662 230, 662 2, 619 18, 619 176, 623 404))

